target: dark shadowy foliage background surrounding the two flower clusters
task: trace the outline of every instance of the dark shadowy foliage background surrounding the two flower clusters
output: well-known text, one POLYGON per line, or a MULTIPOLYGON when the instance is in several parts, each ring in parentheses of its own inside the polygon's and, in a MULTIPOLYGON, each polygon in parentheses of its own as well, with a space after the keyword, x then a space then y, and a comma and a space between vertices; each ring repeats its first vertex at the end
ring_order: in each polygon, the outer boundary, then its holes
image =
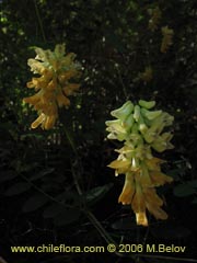
POLYGON ((197 259, 197 2, 1 0, 0 10, 0 255, 14 263, 197 259), (148 25, 157 7, 162 18, 152 32, 148 25), (161 27, 166 25, 174 37, 163 54, 161 27), (35 46, 54 49, 58 43, 78 55, 82 87, 53 130, 32 130, 36 113, 22 102, 32 78, 26 61, 35 57, 35 46), (147 82, 141 77, 146 67, 152 68, 147 82), (119 145, 106 140, 105 121, 128 99, 155 100, 158 108, 175 117, 175 149, 160 155, 167 160, 163 171, 174 178, 159 190, 169 219, 150 217, 146 229, 136 226, 130 207, 117 204, 124 175, 115 178, 106 167, 119 145), (187 249, 137 260, 10 251, 10 245, 42 243, 106 247, 106 235, 117 243, 187 249))

